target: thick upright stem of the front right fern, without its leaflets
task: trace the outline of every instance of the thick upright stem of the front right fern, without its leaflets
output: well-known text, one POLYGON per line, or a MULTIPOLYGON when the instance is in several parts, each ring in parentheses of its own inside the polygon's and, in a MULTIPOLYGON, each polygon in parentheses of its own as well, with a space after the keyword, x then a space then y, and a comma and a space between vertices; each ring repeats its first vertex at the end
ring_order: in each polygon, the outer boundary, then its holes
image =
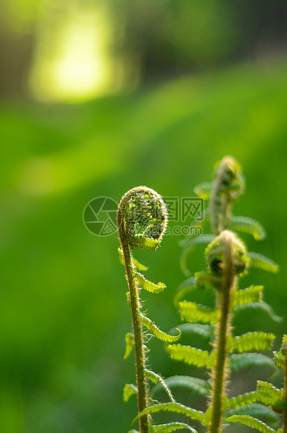
POLYGON ((224 261, 221 280, 221 290, 216 293, 216 302, 220 309, 219 321, 215 327, 214 350, 216 350, 216 362, 212 369, 212 419, 209 433, 222 431, 223 395, 228 380, 228 358, 226 346, 230 334, 230 294, 235 284, 233 270, 233 242, 226 239, 223 242, 224 261))

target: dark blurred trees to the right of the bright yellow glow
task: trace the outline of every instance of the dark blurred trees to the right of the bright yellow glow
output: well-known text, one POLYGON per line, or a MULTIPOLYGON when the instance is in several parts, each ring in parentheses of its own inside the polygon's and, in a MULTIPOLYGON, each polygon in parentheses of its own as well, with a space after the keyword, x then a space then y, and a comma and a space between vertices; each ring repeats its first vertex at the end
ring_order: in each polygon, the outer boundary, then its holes
POLYGON ((284 0, 110 0, 115 47, 145 79, 206 71, 287 47, 284 0))

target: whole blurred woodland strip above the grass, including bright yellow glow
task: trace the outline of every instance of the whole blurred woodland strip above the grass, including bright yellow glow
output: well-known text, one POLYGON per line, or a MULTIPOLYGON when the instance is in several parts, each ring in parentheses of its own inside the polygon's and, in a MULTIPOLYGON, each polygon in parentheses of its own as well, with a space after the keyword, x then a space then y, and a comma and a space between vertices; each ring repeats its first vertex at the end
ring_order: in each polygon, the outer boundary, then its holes
POLYGON ((0 97, 82 101, 286 50, 284 0, 0 0, 0 97))

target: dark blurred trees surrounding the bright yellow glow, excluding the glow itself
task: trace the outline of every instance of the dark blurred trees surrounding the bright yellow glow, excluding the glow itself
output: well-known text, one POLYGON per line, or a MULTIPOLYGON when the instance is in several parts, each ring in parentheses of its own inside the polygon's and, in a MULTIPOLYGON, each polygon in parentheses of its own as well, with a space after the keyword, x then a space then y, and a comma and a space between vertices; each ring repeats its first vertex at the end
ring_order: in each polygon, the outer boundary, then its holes
MULTIPOLYGON (((54 27, 67 21, 73 6, 84 8, 88 3, 96 0, 0 0, 0 97, 27 93, 43 20, 49 20, 49 49, 56 51, 60 36, 54 27)), ((109 11, 115 89, 139 79, 266 57, 287 47, 286 0, 98 0, 97 4, 109 11)))

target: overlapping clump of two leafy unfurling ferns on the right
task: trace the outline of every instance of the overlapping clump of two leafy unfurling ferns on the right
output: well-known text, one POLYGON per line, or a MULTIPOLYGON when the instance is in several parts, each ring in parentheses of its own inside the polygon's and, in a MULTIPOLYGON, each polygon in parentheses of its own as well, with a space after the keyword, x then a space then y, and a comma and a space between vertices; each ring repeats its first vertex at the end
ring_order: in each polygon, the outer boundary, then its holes
MULTIPOLYGON (((263 310, 274 321, 281 320, 272 308, 263 302, 263 286, 240 288, 240 278, 250 267, 277 272, 278 265, 261 254, 248 252, 244 242, 235 234, 235 231, 250 233, 256 240, 265 237, 265 230, 258 221, 233 216, 233 203, 244 192, 244 177, 235 159, 226 156, 219 161, 215 166, 214 181, 200 184, 195 191, 198 196, 209 199, 209 208, 205 210, 202 221, 193 222, 193 226, 205 228, 209 222, 212 233, 189 236, 181 242, 181 267, 189 278, 179 286, 175 305, 185 322, 178 326, 182 333, 209 339, 212 350, 203 351, 178 343, 168 344, 167 350, 173 360, 206 367, 210 379, 205 381, 190 376, 172 376, 165 381, 171 389, 175 386, 184 387, 191 392, 205 395, 208 407, 203 412, 171 402, 149 406, 142 413, 162 410, 184 413, 187 417, 200 421, 209 433, 221 433, 224 425, 228 423, 241 423, 263 433, 275 432, 258 418, 264 418, 268 423, 273 423, 273 426, 277 423, 277 415, 270 406, 274 399, 282 401, 283 391, 276 388, 273 390, 271 384, 258 381, 257 390, 228 398, 227 383, 231 369, 238 372, 252 365, 265 365, 276 369, 272 358, 261 353, 270 351, 274 335, 267 332, 246 332, 233 336, 231 325, 233 315, 247 308, 263 310), (198 244, 207 245, 207 269, 192 275, 187 259, 198 244), (215 293, 214 309, 186 300, 186 295, 198 289, 212 290, 215 293)), ((193 230, 193 233, 196 233, 196 230, 193 230)), ((156 390, 159 387, 156 386, 156 390)), ((281 429, 278 433, 281 433, 281 429)))

